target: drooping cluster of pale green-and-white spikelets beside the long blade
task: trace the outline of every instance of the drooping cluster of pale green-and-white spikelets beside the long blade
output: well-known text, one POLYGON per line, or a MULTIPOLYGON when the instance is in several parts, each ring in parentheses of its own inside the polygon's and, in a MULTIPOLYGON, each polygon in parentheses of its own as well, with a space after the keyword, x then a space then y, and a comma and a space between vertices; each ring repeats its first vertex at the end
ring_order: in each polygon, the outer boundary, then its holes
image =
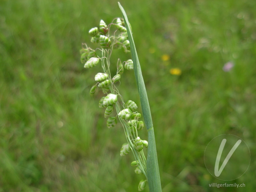
MULTIPOLYGON (((99 101, 100 108, 105 109, 105 117, 108 117, 107 127, 113 128, 117 124, 116 118, 119 118, 120 123, 124 129, 126 143, 122 145, 120 156, 127 155, 132 151, 135 161, 132 162, 133 166, 136 166, 135 173, 144 174, 146 180, 141 180, 138 190, 142 191, 145 188, 148 178, 147 174, 147 160, 143 152, 143 147, 148 147, 147 140, 141 140, 138 132, 143 129, 143 121, 139 121, 141 114, 136 111, 137 104, 132 100, 124 102, 124 98, 117 89, 117 84, 120 84, 121 75, 125 70, 132 70, 134 68, 133 61, 131 59, 122 62, 120 59, 116 61, 116 73, 111 76, 110 68, 111 54, 115 49, 122 49, 124 53, 131 51, 130 45, 130 26, 127 31, 127 22, 123 19, 117 18, 107 25, 103 20, 100 20, 99 28, 94 27, 89 30, 91 36, 91 42, 99 44, 100 48, 95 50, 91 49, 84 44, 84 48, 81 49, 81 62, 84 64, 84 68, 96 67, 99 63, 103 70, 103 73, 97 73, 95 75, 95 81, 97 82, 92 86, 90 95, 94 95, 97 86, 102 90, 106 96, 102 97, 99 101), (114 23, 115 22, 115 23, 114 23), (114 30, 112 29, 113 27, 114 30), (113 32, 112 32, 113 30, 113 32), (99 56, 98 56, 99 55, 99 56), (113 116, 112 112, 116 109, 116 116, 113 116)), ((134 46, 132 44, 132 46, 134 46)), ((133 47, 132 47, 133 48, 133 47)), ((137 69, 137 64, 135 65, 137 69)), ((150 154, 150 153, 149 153, 150 154)))

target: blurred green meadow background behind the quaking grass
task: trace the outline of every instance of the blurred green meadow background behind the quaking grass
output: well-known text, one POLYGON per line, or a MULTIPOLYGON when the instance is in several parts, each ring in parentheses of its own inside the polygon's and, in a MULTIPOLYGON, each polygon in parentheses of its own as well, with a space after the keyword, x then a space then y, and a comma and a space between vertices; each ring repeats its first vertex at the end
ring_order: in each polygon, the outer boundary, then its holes
MULTIPOLYGON (((163 192, 255 191, 256 1, 120 3, 148 92, 163 192), (204 149, 228 133, 251 150, 249 169, 230 182, 246 187, 210 188, 225 182, 205 168, 204 149)), ((113 0, 0 1, 0 192, 137 191, 144 177, 131 154, 119 155, 123 129, 108 129, 102 94, 89 95, 100 67, 84 69, 79 53, 100 19, 121 16, 113 0)), ((123 97, 139 104, 133 71, 121 80, 123 97)))

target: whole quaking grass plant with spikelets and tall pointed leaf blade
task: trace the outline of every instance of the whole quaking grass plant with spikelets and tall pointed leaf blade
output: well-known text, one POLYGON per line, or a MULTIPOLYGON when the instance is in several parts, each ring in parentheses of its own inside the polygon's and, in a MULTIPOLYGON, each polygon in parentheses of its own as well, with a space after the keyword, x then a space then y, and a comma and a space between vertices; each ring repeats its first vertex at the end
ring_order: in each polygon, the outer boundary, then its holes
POLYGON ((108 26, 103 20, 100 20, 99 28, 94 27, 89 31, 89 35, 92 37, 91 42, 99 44, 100 48, 93 50, 87 44, 83 44, 83 49, 80 51, 81 62, 84 63, 84 68, 92 68, 99 65, 99 63, 101 64, 103 73, 99 72, 95 75, 96 84, 92 86, 90 94, 94 95, 97 89, 101 89, 106 94, 100 99, 99 107, 105 108, 104 116, 108 117, 108 128, 112 128, 117 124, 117 118, 122 124, 126 141, 121 147, 120 155, 125 156, 132 152, 135 161, 131 165, 136 167, 135 173, 145 175, 145 179, 139 182, 138 190, 142 191, 148 181, 150 192, 161 192, 154 128, 148 96, 132 38, 131 26, 123 7, 120 3, 118 4, 122 11, 123 19, 114 19, 108 26), (113 33, 111 33, 112 29, 113 33), (118 59, 116 62, 116 74, 111 76, 110 57, 114 49, 122 49, 125 53, 131 52, 132 59, 124 62, 118 59), (144 128, 144 123, 140 121, 141 114, 136 111, 138 108, 136 103, 132 100, 125 101, 116 87, 124 69, 134 69, 142 114, 148 131, 148 141, 141 140, 139 137, 139 132, 144 128), (116 109, 117 115, 113 115, 114 109, 116 109), (147 159, 143 151, 145 148, 148 148, 147 159))

